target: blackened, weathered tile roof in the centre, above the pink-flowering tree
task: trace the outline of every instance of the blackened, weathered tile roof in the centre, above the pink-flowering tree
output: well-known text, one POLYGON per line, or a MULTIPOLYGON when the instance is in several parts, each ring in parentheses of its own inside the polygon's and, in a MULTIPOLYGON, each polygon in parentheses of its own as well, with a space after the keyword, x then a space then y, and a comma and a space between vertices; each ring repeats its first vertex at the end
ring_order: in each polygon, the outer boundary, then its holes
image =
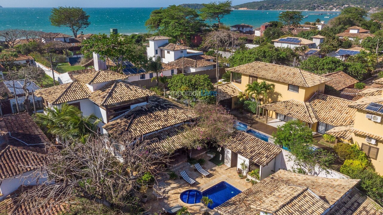
POLYGON ((104 125, 110 134, 130 132, 134 136, 149 134, 197 117, 196 113, 180 104, 158 96, 151 96, 146 105, 137 106, 118 119, 104 125))

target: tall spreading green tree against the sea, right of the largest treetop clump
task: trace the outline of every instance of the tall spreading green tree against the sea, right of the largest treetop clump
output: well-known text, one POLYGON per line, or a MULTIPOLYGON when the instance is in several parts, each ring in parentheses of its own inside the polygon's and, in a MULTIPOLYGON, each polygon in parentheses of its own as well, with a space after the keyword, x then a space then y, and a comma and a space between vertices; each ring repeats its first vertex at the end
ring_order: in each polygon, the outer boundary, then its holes
POLYGON ((231 1, 203 3, 200 9, 201 17, 205 20, 214 20, 221 26, 221 19, 231 13, 231 1))

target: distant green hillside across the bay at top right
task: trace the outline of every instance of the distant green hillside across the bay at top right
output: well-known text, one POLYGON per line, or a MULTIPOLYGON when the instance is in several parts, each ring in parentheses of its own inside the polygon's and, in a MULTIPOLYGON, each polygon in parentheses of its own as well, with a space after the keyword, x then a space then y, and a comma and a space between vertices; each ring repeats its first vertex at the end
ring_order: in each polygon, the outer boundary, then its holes
POLYGON ((264 0, 235 5, 235 9, 249 10, 340 10, 343 7, 356 6, 370 10, 383 8, 382 0, 264 0))

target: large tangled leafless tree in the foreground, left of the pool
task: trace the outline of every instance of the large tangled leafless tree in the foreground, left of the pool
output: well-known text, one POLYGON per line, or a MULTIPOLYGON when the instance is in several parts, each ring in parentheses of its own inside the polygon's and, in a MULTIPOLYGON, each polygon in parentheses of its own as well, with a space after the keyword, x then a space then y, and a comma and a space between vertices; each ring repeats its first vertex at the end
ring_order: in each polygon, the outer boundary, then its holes
MULTIPOLYGON (((126 196, 140 195, 137 180, 148 171, 160 173, 157 165, 168 162, 167 156, 158 155, 150 140, 129 133, 95 135, 85 143, 49 152, 46 164, 34 167, 46 172, 49 180, 21 194, 17 202, 38 210, 47 203, 56 207, 76 195, 95 204, 126 210, 126 196), (52 198, 56 201, 51 202, 52 198)), ((135 204, 134 201, 130 203, 135 204)))

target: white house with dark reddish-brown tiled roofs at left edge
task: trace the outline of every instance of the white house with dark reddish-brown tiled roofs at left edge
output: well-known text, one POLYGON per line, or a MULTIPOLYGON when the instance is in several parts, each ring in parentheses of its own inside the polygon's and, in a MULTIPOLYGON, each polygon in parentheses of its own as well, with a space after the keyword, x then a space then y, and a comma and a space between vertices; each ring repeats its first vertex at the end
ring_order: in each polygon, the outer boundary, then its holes
POLYGON ((44 165, 50 140, 27 112, 0 117, 0 201, 21 185, 47 181, 47 174, 34 167, 44 165))

